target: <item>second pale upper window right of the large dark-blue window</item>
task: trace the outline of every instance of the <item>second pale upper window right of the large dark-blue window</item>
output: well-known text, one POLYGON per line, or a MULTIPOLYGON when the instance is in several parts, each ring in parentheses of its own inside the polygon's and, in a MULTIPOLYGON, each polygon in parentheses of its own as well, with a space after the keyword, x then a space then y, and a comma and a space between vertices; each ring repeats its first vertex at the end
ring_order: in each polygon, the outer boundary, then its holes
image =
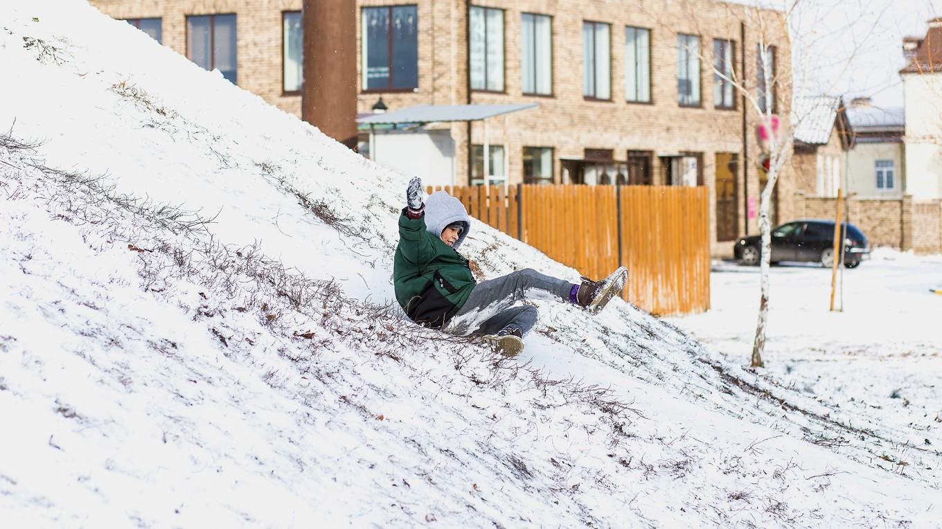
POLYGON ((553 93, 551 20, 546 15, 521 15, 520 71, 525 94, 553 93))

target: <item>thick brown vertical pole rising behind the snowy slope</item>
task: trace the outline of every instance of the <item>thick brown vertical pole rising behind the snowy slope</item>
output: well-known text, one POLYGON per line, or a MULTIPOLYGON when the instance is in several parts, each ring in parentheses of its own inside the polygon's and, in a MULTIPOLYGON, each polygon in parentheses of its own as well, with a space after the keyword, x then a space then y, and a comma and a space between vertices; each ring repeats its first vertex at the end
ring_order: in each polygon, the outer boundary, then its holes
POLYGON ((301 119, 356 149, 356 1, 304 0, 301 119))

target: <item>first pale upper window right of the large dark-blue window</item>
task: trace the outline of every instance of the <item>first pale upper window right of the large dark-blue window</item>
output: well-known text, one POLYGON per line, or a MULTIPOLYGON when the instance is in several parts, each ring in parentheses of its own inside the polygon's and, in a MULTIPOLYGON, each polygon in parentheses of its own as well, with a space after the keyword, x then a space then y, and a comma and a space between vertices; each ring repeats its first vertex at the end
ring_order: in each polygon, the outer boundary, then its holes
POLYGON ((504 91, 504 10, 472 6, 468 24, 471 89, 504 91))

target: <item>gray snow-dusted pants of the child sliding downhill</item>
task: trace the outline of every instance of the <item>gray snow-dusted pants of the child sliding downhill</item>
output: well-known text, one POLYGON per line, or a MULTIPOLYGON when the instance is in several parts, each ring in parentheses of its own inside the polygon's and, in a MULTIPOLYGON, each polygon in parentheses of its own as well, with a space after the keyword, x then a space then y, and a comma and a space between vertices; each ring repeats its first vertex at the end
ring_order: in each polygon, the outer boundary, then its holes
POLYGON ((455 334, 494 334, 508 325, 523 334, 536 325, 536 307, 517 301, 549 297, 569 301, 573 283, 551 278, 532 268, 524 268, 493 280, 481 281, 458 313, 451 318, 447 331, 455 334), (548 295, 548 296, 547 296, 548 295))

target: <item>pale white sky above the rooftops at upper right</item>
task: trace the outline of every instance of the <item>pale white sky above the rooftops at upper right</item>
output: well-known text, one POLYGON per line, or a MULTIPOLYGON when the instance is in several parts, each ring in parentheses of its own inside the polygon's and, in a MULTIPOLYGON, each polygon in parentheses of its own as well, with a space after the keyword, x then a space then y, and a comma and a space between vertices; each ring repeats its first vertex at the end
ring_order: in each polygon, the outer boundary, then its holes
POLYGON ((898 72, 904 66, 902 38, 923 37, 929 19, 942 16, 942 0, 730 0, 784 9, 792 17, 796 87, 807 66, 808 92, 870 96, 881 106, 902 106, 898 72))

